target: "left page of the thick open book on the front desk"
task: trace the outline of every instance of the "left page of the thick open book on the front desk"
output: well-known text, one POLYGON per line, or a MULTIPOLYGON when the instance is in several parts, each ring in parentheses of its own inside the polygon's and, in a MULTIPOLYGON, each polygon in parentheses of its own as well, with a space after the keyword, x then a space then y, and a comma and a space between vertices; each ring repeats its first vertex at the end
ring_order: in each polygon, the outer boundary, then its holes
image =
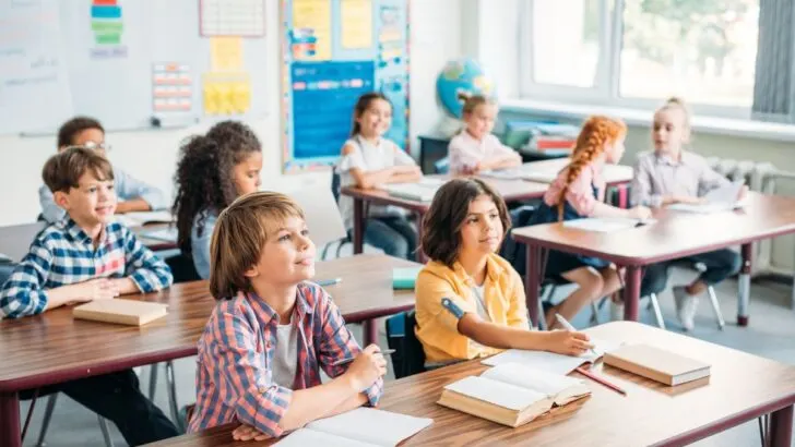
POLYGON ((539 400, 545 400, 548 397, 547 395, 533 389, 480 376, 464 377, 461 380, 453 382, 446 386, 444 389, 514 411, 522 411, 533 403, 539 400))

